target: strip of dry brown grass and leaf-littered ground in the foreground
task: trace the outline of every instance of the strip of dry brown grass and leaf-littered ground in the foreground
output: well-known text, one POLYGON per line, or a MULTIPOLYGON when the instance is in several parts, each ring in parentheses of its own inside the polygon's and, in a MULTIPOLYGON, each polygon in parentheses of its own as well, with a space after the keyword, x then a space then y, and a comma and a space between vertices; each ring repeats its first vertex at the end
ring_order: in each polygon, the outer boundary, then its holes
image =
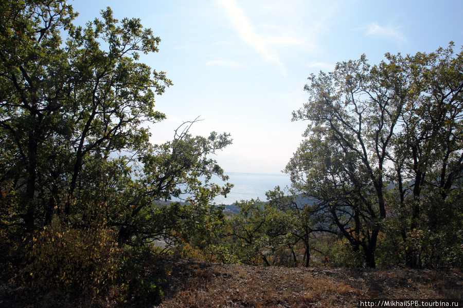
POLYGON ((159 308, 356 307, 360 299, 463 298, 463 273, 456 270, 263 267, 167 257, 156 268, 167 281, 159 308))

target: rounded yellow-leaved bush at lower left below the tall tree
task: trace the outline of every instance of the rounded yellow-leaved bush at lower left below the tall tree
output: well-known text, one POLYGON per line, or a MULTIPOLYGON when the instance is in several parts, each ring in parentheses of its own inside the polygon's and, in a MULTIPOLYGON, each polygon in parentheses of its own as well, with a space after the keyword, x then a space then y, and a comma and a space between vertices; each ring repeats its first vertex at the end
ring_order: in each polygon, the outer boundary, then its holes
POLYGON ((116 279, 119 248, 103 225, 70 227, 58 219, 33 236, 16 276, 38 297, 96 296, 116 279))

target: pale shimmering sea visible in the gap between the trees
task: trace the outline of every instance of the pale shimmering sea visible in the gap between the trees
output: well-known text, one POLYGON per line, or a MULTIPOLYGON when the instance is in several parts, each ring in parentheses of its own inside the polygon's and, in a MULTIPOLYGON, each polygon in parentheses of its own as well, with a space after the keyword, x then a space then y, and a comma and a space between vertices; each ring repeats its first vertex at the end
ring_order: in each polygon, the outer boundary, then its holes
MULTIPOLYGON (((276 186, 284 189, 291 185, 291 180, 285 174, 248 174, 242 172, 225 172, 230 178, 229 183, 235 184, 231 188, 227 198, 223 196, 217 197, 214 201, 217 204, 233 204, 241 200, 251 200, 259 198, 261 201, 267 201, 265 192, 273 190, 276 186)), ((221 184, 222 182, 216 182, 221 184)))

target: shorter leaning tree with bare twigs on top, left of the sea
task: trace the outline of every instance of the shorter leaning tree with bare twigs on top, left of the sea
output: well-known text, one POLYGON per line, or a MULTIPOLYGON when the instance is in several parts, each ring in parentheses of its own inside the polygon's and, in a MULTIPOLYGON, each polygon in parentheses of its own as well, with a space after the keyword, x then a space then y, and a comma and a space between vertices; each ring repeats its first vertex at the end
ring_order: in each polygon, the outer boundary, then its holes
POLYGON ((208 138, 193 138, 188 133, 193 123, 176 132, 172 142, 155 145, 139 155, 143 165, 139 178, 122 195, 115 195, 117 201, 108 212, 110 224, 120 226, 119 241, 127 242, 136 234, 141 242, 163 238, 179 243, 205 230, 212 232, 212 225, 224 219, 222 208, 211 201, 219 194, 226 196, 233 185, 221 187, 211 182, 212 176, 223 181, 228 177, 209 156, 231 141, 228 134, 215 132, 208 138), (171 198, 183 198, 186 204, 154 205, 171 198))

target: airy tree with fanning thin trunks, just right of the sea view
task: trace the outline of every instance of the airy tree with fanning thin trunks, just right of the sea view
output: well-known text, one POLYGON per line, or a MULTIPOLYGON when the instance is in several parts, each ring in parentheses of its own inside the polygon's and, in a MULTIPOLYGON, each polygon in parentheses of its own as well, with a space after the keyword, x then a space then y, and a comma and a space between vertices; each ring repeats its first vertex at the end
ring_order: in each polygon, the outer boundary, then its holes
POLYGON ((365 56, 336 65, 334 72, 312 75, 305 89, 310 100, 293 113, 309 120, 286 171, 293 188, 318 201, 354 251, 363 249, 375 267, 380 225, 386 217, 385 163, 397 118, 404 104, 377 84, 365 56))

